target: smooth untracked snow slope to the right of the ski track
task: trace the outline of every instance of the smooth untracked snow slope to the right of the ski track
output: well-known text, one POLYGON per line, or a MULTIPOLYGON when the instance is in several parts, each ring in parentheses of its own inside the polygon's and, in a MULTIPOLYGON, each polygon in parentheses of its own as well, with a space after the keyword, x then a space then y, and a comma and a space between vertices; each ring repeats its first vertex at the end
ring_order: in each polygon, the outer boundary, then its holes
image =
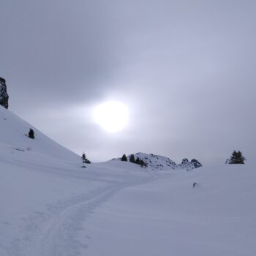
POLYGON ((255 170, 158 171, 157 180, 123 189, 89 219, 97 239, 87 255, 256 255, 255 170))

